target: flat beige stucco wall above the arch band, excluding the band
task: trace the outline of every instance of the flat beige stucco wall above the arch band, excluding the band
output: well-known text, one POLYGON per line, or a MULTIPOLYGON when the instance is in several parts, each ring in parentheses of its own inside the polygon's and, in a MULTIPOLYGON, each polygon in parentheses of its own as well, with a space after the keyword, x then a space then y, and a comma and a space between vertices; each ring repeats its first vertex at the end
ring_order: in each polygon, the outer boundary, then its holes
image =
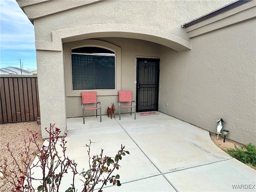
MULTIPOLYGON (((181 24, 230 2, 233 1, 100 1, 35 19, 35 38, 36 41, 52 41, 52 31, 75 26, 127 24, 170 32, 188 40, 188 35, 180 28, 181 24)), ((44 9, 56 9, 48 4, 45 3, 44 9)), ((59 6, 63 6, 62 3, 59 6)), ((36 6, 30 9, 36 9, 36 6)), ((136 28, 134 30, 136 32, 136 28)))

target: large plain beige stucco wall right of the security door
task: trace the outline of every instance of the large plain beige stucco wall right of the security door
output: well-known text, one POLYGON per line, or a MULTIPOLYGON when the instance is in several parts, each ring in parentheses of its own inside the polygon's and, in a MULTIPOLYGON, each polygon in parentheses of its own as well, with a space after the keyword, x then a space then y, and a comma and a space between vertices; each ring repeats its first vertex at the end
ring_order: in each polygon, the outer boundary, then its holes
POLYGON ((190 51, 162 46, 159 110, 210 132, 223 118, 228 138, 256 144, 255 34, 253 19, 192 38, 190 51))

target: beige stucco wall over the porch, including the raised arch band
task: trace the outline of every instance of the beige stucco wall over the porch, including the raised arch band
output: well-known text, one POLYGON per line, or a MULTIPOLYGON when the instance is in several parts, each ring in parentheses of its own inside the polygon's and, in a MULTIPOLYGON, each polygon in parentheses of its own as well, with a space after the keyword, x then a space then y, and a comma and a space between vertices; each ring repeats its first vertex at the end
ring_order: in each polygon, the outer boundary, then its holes
MULTIPOLYGON (((48 12, 52 11, 46 11, 45 17, 35 14, 36 49, 47 50, 50 46, 51 50, 60 51, 60 39, 69 42, 69 37, 125 37, 156 42, 177 51, 188 50, 191 44, 180 25, 229 2, 232 1, 100 1, 50 16, 48 12)), ((45 10, 64 6, 61 1, 51 4, 38 6, 45 10)), ((34 8, 26 6, 24 11, 31 15, 34 8)))

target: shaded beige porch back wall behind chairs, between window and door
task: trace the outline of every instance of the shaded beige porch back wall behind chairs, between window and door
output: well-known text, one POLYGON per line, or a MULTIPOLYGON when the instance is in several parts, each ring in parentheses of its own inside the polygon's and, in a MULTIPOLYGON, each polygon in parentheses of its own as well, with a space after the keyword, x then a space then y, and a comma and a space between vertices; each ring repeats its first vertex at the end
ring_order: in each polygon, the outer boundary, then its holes
MULTIPOLYGON (((120 74, 120 88, 118 90, 132 90, 133 99, 135 100, 135 80, 136 80, 136 57, 155 57, 159 58, 159 44, 155 44, 152 42, 144 41, 144 40, 136 40, 129 38, 98 38, 98 40, 104 42, 109 42, 121 48, 121 69, 120 72, 117 71, 117 76, 120 74)), ((86 41, 85 41, 86 42, 86 41)), ((76 44, 69 43, 69 44, 76 44)), ((84 44, 86 45, 86 44, 84 44)), ((70 54, 66 54, 68 57, 64 62, 70 61, 70 54)), ((68 68, 67 65, 65 65, 68 68)), ((66 70, 65 68, 65 70, 66 70)), ((71 88, 70 83, 66 83, 66 89, 71 88)), ((98 96, 98 101, 101 102, 102 105, 102 114, 107 114, 106 110, 108 106, 111 106, 111 102, 114 102, 116 106, 116 114, 118 114, 118 90, 116 90, 115 94, 111 95, 102 95, 98 96)), ((67 117, 80 117, 82 116, 82 108, 81 108, 81 96, 80 91, 79 96, 66 96, 66 116, 67 117)), ((100 92, 108 92, 106 91, 97 91, 99 95, 100 92)), ((123 112, 129 112, 130 109, 122 109, 123 112)), ((96 112, 86 111, 86 116, 95 115, 96 112)))

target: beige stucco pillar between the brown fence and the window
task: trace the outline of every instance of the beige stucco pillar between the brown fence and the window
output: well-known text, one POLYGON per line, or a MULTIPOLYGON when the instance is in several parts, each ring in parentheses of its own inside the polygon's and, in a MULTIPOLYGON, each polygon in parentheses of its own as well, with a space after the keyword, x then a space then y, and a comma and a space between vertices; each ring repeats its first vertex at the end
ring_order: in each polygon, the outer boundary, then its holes
POLYGON ((64 66, 62 58, 62 52, 36 51, 43 138, 49 136, 44 128, 49 128, 50 123, 61 128, 63 133, 66 128, 65 85, 63 83, 64 66))

